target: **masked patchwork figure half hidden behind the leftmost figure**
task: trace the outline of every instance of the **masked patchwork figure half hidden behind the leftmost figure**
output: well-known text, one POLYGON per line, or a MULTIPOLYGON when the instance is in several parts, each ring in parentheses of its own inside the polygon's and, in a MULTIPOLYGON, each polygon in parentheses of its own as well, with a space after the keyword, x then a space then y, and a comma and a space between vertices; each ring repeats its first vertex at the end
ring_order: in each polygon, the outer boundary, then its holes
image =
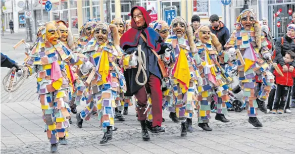
MULTIPOLYGON (((67 49, 74 49, 75 50, 76 47, 74 44, 74 38, 73 38, 74 36, 71 33, 71 31, 69 31, 69 29, 66 27, 66 25, 64 25, 64 24, 58 25, 58 30, 61 33, 60 43, 63 46, 65 46, 67 49)), ((71 67, 71 70, 74 70, 72 66, 70 66, 70 67, 71 67)), ((85 87, 84 87, 84 83, 79 79, 79 77, 76 73, 74 73, 73 79, 74 80, 71 80, 69 83, 70 87, 71 87, 70 89, 72 92, 72 99, 70 101, 70 108, 71 108, 71 112, 73 114, 77 114, 76 107, 78 105, 80 105, 81 97, 82 97, 85 87)), ((69 122, 70 122, 70 124, 72 123, 71 118, 69 119, 69 122)))

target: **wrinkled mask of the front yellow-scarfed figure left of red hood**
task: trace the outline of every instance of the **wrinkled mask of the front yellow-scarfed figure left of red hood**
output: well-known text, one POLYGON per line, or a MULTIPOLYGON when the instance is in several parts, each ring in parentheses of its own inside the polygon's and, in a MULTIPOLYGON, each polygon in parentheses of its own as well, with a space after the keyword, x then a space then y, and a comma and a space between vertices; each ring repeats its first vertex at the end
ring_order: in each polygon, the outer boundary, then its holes
POLYGON ((109 31, 109 26, 106 23, 101 22, 97 24, 94 28, 94 37, 96 38, 96 41, 100 44, 107 42, 109 31))

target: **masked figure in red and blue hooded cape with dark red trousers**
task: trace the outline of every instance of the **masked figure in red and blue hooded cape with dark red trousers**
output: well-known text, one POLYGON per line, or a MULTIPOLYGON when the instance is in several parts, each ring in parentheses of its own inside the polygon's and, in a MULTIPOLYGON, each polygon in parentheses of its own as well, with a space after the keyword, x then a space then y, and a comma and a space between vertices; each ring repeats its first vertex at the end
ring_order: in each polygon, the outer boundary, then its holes
MULTIPOLYGON (((157 56, 152 52, 152 49, 158 55, 164 54, 165 50, 171 50, 172 47, 167 43, 163 42, 161 36, 153 29, 149 27, 151 22, 151 17, 149 13, 142 7, 133 7, 131 9, 131 28, 123 34, 120 39, 120 46, 125 51, 126 54, 138 56, 138 45, 141 45, 141 50, 145 55, 145 73, 147 77, 147 82, 144 86, 138 85, 135 82, 136 73, 138 66, 136 68, 126 69, 124 71, 124 76, 126 78, 127 92, 126 96, 132 96, 138 99, 138 120, 141 124, 141 135, 144 141, 150 140, 150 135, 147 132, 147 127, 145 124, 146 119, 146 105, 147 105, 147 94, 150 93, 153 102, 153 125, 149 128, 153 133, 165 132, 165 128, 161 127, 162 124, 162 91, 161 91, 161 79, 162 74, 158 66, 157 56), (142 34, 142 35, 141 35, 142 34)), ((142 60, 144 61, 144 60, 142 60)), ((138 76, 138 81, 143 82, 143 72, 138 76)))

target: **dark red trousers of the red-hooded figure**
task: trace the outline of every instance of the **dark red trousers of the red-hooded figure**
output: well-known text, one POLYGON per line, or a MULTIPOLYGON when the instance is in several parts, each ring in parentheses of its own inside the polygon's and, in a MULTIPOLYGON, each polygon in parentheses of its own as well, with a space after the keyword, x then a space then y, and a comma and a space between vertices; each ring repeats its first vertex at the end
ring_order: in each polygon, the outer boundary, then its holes
MULTIPOLYGON (((137 98, 137 113, 138 120, 146 120, 147 112, 144 113, 147 105, 147 94, 151 94, 151 102, 153 103, 152 115, 153 115, 153 127, 162 125, 162 91, 161 91, 161 80, 151 74, 146 84, 142 86, 135 97, 137 98), (144 114, 143 114, 144 113, 144 114)), ((151 106, 151 105, 150 105, 151 106)))

